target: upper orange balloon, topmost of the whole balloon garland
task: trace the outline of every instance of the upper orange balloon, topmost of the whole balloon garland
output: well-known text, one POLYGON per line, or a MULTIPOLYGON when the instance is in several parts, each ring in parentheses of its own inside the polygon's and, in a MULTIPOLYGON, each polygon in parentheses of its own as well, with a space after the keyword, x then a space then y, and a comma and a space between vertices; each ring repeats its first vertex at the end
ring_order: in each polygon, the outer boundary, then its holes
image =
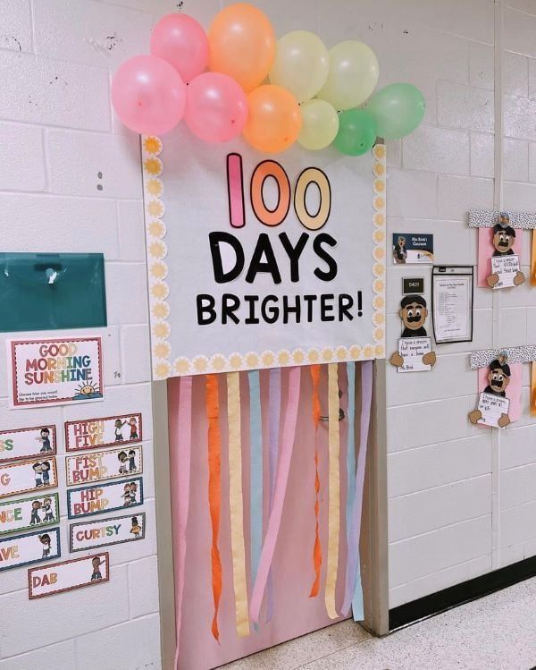
POLYGON ((209 70, 229 74, 248 91, 263 81, 275 57, 275 33, 266 14, 252 4, 230 4, 208 30, 209 70))

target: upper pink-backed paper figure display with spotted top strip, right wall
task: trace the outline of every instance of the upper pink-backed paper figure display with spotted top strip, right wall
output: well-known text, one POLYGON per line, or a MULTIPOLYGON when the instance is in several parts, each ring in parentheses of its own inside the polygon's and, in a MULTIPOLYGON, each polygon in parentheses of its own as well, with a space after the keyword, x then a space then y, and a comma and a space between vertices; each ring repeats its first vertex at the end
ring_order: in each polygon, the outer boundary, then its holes
POLYGON ((523 284, 525 276, 521 270, 520 233, 536 228, 536 214, 472 209, 469 225, 479 229, 478 285, 502 289, 523 284))

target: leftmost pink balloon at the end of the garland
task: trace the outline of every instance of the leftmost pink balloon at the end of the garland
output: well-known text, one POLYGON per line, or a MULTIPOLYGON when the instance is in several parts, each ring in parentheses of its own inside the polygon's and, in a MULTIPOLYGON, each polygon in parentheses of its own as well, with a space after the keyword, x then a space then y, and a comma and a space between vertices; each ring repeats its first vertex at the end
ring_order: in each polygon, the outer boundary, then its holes
POLYGON ((112 103, 122 123, 131 131, 162 135, 184 116, 186 84, 179 72, 162 58, 137 55, 115 72, 112 103))

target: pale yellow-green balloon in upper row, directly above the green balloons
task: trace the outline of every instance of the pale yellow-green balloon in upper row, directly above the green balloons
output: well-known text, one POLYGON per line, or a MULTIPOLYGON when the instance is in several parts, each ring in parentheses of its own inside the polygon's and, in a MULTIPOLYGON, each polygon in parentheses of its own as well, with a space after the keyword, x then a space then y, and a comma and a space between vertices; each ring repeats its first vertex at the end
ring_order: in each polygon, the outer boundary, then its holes
POLYGON ((348 40, 330 49, 330 73, 318 98, 335 109, 363 105, 378 83, 380 65, 371 47, 348 40))

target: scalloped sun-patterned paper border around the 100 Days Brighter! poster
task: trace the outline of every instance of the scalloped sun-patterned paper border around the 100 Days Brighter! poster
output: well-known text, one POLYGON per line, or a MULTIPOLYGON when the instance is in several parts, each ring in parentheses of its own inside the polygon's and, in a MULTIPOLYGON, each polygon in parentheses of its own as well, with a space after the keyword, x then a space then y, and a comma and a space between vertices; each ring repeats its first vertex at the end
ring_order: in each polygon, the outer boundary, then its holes
POLYGON ((216 353, 208 358, 203 355, 188 359, 180 356, 171 359, 169 338, 170 293, 166 283, 167 246, 164 242, 165 205, 163 202, 163 142, 155 136, 142 136, 141 156, 143 167, 144 208, 147 239, 147 275, 149 282, 149 309, 152 341, 153 377, 167 379, 185 375, 211 372, 230 372, 244 369, 285 368, 314 363, 344 362, 347 360, 373 360, 385 358, 385 228, 386 228, 386 161, 385 145, 373 148, 373 343, 352 344, 288 351, 216 353))

